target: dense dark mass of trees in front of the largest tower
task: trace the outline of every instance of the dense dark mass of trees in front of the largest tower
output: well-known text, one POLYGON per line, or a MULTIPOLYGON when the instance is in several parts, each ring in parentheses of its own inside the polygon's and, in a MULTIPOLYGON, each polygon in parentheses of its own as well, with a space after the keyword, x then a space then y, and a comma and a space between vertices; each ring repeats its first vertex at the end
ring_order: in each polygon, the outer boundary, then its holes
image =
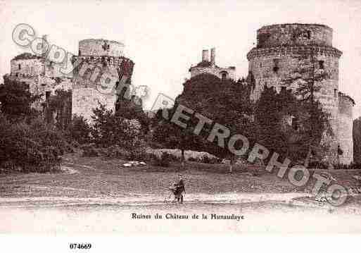
MULTIPOLYGON (((175 106, 167 109, 168 119, 162 116, 162 111, 158 111, 158 126, 153 132, 153 140, 163 142, 165 147, 209 152, 222 159, 230 159, 231 166, 234 153, 225 145, 220 147, 217 138, 213 142, 208 141, 215 123, 228 128, 229 136, 246 136, 251 147, 258 142, 270 152, 277 152, 295 162, 304 162, 310 147, 319 147, 313 148, 314 157, 320 155, 315 150, 327 148, 321 143, 322 135, 332 133, 328 115, 322 111, 318 101, 310 103, 308 99, 298 99, 290 90, 277 93, 274 88, 265 87, 260 99, 253 102, 250 99, 251 89, 245 79, 234 82, 220 80, 210 74, 196 75, 184 82, 184 90, 177 97, 175 106), (212 123, 205 124, 198 136, 194 135, 198 123, 195 117, 191 117, 186 129, 179 128, 169 120, 179 104, 209 118, 212 123)), ((229 137, 225 143, 228 141, 229 137)), ((241 144, 238 143, 238 147, 241 144)))

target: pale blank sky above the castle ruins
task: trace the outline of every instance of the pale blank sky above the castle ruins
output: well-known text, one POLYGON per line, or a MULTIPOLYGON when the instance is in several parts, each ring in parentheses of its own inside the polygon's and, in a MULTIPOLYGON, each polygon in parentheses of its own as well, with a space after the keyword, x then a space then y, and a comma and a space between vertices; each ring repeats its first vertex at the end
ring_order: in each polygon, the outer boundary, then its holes
POLYGON ((321 23, 334 30, 333 45, 343 51, 339 90, 356 102, 361 116, 361 1, 106 1, 0 0, 0 75, 10 72, 10 60, 24 52, 12 40, 19 23, 48 35, 51 44, 77 54, 82 39, 110 39, 125 44, 134 61, 132 82, 146 85, 150 109, 159 92, 177 97, 189 67, 201 61, 202 49, 216 47, 218 66, 236 66, 246 76, 246 54, 256 43, 256 31, 277 23, 321 23))

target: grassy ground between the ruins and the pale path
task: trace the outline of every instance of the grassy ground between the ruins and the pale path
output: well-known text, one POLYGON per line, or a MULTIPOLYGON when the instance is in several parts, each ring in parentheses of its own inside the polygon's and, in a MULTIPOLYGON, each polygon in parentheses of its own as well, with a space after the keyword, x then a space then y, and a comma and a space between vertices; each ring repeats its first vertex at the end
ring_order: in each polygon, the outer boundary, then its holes
MULTIPOLYGON (((12 173, 0 175, 0 197, 137 197, 164 195, 175 182, 178 173, 185 178, 187 193, 285 193, 310 192, 315 180, 305 187, 295 187, 287 177, 279 179, 274 173, 255 165, 236 165, 228 172, 227 165, 187 162, 170 167, 124 167, 120 159, 82 157, 67 154, 61 173, 12 173)), ((319 170, 320 171, 320 170, 319 170)), ((338 184, 357 187, 353 175, 360 170, 328 171, 338 184)))

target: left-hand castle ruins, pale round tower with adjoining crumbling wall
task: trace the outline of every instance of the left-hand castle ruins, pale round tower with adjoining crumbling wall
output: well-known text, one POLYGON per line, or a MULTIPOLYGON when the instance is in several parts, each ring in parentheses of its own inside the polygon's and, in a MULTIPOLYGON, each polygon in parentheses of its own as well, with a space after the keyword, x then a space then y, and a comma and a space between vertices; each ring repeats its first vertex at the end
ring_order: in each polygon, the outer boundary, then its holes
MULTIPOLYGON (((46 42, 46 37, 43 37, 46 42)), ((43 47, 45 48, 45 47, 43 47)), ((62 113, 63 125, 70 123, 73 114, 91 120, 93 109, 104 104, 107 109, 115 111, 118 93, 114 86, 125 77, 125 84, 130 84, 134 63, 123 54, 124 44, 106 39, 84 39, 79 42, 79 54, 72 57, 75 68, 72 73, 61 73, 63 64, 53 63, 42 56, 24 53, 11 60, 11 73, 6 78, 25 82, 30 92, 40 94, 42 100, 33 106, 43 108, 56 90, 70 92, 63 108, 55 114, 62 113), (109 80, 103 80, 104 78, 109 80), (109 82, 110 85, 106 85, 109 82)), ((122 91, 120 91, 122 92, 122 91)), ((56 115, 53 116, 56 118, 56 115)))

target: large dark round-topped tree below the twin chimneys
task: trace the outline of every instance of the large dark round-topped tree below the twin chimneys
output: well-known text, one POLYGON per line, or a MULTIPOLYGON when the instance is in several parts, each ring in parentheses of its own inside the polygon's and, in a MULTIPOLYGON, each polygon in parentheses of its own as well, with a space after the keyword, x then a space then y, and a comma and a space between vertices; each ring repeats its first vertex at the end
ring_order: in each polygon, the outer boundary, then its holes
MULTIPOLYGON (((202 116, 209 118, 213 123, 224 125, 230 130, 230 136, 240 134, 254 140, 253 131, 253 104, 250 101, 249 87, 246 82, 234 82, 233 80, 220 80, 215 75, 201 74, 187 80, 184 90, 177 103, 193 109, 202 116), (194 94, 198 94, 194 96, 194 94)), ((197 119, 192 118, 189 130, 195 127, 197 119)), ((229 151, 227 144, 219 147, 217 140, 208 142, 207 137, 212 130, 213 124, 206 124, 201 132, 201 144, 198 149, 214 154, 220 158, 231 160, 229 171, 232 172, 232 164, 235 156, 229 151)), ((229 137, 225 139, 225 143, 229 137)), ((239 146, 239 143, 236 144, 239 146)))

